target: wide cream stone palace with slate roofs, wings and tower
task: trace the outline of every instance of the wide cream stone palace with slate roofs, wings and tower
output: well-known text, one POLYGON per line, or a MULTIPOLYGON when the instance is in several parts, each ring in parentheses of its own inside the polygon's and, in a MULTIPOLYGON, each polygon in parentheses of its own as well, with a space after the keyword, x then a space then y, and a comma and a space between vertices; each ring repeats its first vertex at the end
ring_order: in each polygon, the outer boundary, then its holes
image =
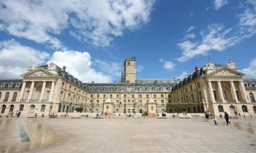
POLYGON ((137 79, 136 58, 127 58, 119 83, 85 83, 50 63, 31 65, 23 80, 0 80, 0 116, 59 116, 80 108, 83 113, 201 114, 256 116, 256 80, 246 80, 235 63, 208 62, 184 80, 137 79))

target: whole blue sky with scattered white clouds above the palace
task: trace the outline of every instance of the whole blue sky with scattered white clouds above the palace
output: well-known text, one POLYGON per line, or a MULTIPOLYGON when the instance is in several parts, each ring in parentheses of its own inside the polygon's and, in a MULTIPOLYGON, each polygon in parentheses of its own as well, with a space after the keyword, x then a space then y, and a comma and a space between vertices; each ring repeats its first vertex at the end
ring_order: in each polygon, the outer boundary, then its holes
POLYGON ((184 78, 214 63, 256 77, 256 1, 0 1, 0 78, 53 61, 83 82, 184 78))

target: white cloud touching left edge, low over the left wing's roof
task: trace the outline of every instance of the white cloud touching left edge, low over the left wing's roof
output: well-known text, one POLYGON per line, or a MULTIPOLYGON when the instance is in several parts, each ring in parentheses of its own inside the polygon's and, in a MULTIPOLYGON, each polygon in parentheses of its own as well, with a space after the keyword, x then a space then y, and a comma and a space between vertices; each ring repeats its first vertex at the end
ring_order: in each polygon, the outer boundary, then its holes
POLYGON ((0 78, 17 79, 27 72, 29 65, 35 62, 44 64, 49 58, 47 52, 41 52, 28 46, 22 46, 14 39, 0 42, 0 78))

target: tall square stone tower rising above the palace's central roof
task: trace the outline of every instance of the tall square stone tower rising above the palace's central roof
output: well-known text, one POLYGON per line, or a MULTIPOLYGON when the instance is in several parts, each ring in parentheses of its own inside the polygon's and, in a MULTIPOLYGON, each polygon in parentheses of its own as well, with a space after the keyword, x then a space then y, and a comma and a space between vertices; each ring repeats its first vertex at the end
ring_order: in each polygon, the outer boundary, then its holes
POLYGON ((124 61, 124 69, 122 71, 121 82, 135 83, 136 82, 136 58, 126 58, 124 61))

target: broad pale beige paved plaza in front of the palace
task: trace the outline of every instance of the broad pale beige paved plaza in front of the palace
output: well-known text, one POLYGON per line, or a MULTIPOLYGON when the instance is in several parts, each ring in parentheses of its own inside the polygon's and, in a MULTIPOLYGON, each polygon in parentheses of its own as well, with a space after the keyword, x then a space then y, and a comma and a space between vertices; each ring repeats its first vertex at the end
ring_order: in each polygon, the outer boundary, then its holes
POLYGON ((256 120, 20 118, 0 120, 0 152, 255 152, 256 120), (251 125, 253 123, 253 126, 251 125), (21 130, 29 141, 21 141, 21 130))

